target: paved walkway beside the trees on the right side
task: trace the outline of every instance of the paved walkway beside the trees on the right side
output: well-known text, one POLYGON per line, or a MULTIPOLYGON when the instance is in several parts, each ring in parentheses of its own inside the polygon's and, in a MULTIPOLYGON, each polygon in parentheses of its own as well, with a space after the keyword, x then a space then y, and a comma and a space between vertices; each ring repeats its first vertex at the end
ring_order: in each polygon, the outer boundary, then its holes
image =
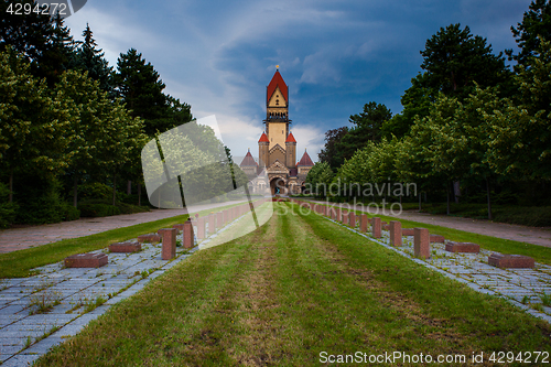
MULTIPOLYGON (((323 201, 312 201, 312 202, 327 204, 327 202, 323 201)), ((369 214, 387 215, 391 217, 397 217, 399 219, 420 222, 435 226, 469 231, 473 234, 486 235, 496 238, 511 239, 519 242, 533 244, 551 248, 551 230, 549 228, 545 229, 537 227, 509 225, 505 223, 494 223, 494 222, 478 220, 472 218, 419 213, 415 211, 404 211, 400 214, 396 213, 397 211, 395 211, 395 214, 392 214, 389 209, 385 209, 382 213, 380 208, 377 211, 377 208, 372 206, 371 207, 363 205, 354 206, 349 204, 336 204, 336 203, 329 203, 329 204, 350 207, 356 211, 363 211, 369 214)))

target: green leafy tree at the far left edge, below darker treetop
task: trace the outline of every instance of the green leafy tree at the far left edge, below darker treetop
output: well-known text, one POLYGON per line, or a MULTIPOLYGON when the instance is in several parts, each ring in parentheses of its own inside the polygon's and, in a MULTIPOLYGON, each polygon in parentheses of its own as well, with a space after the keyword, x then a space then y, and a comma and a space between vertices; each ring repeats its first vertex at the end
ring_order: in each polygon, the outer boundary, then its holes
POLYGON ((11 48, 0 53, 0 166, 8 173, 10 192, 14 174, 53 179, 73 155, 67 149, 75 138, 71 102, 51 95, 30 68, 11 48))

